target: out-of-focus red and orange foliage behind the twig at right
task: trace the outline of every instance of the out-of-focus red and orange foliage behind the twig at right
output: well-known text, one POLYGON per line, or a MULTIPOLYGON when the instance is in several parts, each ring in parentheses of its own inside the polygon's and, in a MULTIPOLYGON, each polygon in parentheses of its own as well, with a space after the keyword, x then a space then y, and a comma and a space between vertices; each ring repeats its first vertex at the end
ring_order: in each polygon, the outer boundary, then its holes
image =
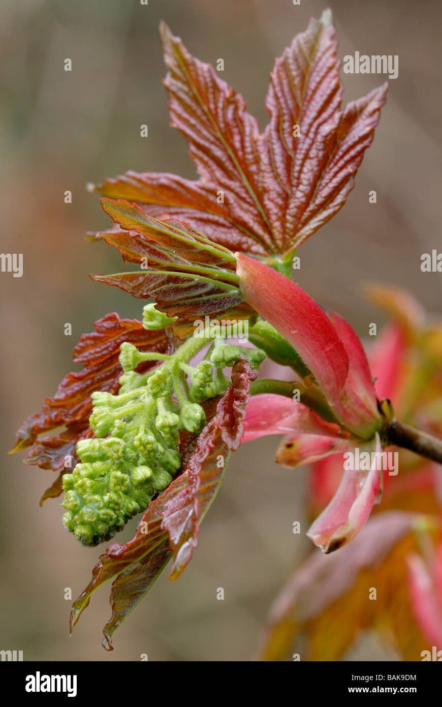
MULTIPOLYGON (((397 399, 400 419, 442 438, 442 322, 406 291, 367 291, 391 317, 369 355, 378 397, 397 399)), ((381 506, 348 548, 323 562, 311 554, 295 568, 270 609, 263 660, 294 650, 301 660, 337 660, 365 629, 380 632, 404 660, 422 660, 423 650, 440 643, 442 469, 407 450, 388 451, 398 452, 399 471, 384 472, 381 506)), ((335 494, 342 466, 341 454, 313 464, 312 515, 335 494)))

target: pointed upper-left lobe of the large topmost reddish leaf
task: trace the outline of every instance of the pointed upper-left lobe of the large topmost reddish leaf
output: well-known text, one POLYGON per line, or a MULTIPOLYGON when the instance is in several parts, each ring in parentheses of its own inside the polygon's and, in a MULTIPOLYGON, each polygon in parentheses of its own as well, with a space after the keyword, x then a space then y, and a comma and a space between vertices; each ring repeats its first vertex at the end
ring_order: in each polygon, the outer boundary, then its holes
POLYGON ((232 221, 265 250, 276 252, 262 206, 256 119, 246 112, 242 96, 210 64, 192 57, 164 23, 160 35, 169 69, 164 84, 170 124, 189 142, 189 157, 203 180, 225 193, 232 221))

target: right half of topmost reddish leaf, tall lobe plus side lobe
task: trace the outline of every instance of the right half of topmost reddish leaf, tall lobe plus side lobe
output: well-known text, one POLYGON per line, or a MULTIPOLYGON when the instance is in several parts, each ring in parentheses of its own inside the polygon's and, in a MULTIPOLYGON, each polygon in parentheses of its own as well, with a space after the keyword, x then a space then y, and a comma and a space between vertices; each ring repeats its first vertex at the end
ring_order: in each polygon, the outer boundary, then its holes
POLYGON ((334 36, 325 11, 276 59, 270 76, 265 206, 282 252, 303 243, 345 204, 385 103, 386 84, 341 110, 334 36))

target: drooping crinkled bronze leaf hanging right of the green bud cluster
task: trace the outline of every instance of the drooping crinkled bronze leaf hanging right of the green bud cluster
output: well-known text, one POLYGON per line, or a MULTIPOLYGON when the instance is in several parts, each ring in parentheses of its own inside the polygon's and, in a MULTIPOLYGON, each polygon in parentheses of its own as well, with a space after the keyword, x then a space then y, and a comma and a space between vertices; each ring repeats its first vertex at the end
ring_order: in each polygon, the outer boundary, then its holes
POLYGON ((173 556, 171 579, 184 570, 198 544, 199 524, 220 487, 230 451, 241 440, 249 380, 255 377, 249 364, 239 361, 225 395, 205 402, 205 428, 199 436, 184 433, 181 438, 182 473, 150 503, 135 537, 125 545, 112 542, 100 556, 88 587, 73 603, 71 629, 92 592, 117 575, 110 597, 112 618, 103 631, 104 648, 112 650, 112 634, 143 599, 169 559, 173 556), (220 464, 221 458, 224 464, 220 464))

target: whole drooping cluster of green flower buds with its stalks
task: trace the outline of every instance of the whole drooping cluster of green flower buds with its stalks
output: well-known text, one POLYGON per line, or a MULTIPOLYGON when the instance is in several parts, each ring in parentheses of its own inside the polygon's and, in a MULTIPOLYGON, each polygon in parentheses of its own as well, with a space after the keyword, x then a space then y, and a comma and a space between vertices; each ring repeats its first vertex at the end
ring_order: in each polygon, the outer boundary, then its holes
MULTIPOLYGON (((161 320, 164 325, 164 315, 153 305, 144 308, 144 315, 151 324, 161 320)), ((192 337, 173 356, 121 345, 124 375, 119 394, 92 393, 90 426, 95 438, 78 442, 80 463, 63 477, 63 523, 83 544, 110 539, 169 486, 181 466, 179 431, 198 433, 204 426, 199 402, 226 390, 229 380, 222 368, 241 355, 257 366, 265 355, 217 340, 201 363, 189 366, 209 341, 192 337), (135 373, 138 363, 146 360, 163 362, 143 375, 135 373), (190 387, 186 375, 191 376, 190 387)))

